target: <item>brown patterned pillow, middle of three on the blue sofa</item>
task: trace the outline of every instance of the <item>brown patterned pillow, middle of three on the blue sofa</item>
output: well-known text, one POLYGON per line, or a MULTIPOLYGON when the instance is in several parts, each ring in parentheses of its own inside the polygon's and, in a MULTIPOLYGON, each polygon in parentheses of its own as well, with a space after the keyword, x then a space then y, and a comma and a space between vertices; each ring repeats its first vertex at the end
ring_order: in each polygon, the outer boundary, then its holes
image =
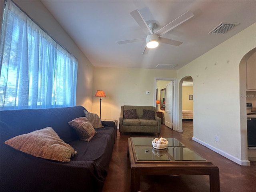
POLYGON ((97 133, 86 117, 75 118, 68 124, 76 130, 80 140, 90 141, 97 133))

